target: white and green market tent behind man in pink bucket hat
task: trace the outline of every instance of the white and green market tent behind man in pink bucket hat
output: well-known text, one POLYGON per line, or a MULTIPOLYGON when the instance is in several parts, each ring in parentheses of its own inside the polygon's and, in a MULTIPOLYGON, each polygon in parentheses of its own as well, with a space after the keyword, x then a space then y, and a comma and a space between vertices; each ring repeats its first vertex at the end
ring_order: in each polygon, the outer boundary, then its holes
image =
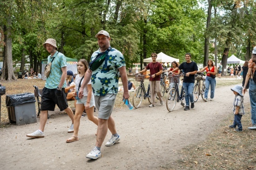
MULTIPOLYGON (((71 70, 73 74, 77 74, 77 59, 66 57, 67 60, 67 71, 71 70)), ((47 64, 47 58, 42 59, 42 80, 46 80, 46 77, 44 76, 44 68, 47 64)))

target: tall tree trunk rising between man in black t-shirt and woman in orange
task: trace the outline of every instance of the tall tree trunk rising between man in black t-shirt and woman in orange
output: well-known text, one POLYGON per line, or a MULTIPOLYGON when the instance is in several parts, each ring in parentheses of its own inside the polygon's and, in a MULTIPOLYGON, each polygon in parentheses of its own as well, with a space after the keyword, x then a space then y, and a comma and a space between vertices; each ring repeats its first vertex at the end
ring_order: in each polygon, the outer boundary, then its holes
MULTIPOLYGON (((211 13, 212 13, 212 0, 208 0, 208 17, 207 17, 207 22, 206 22, 206 30, 209 28, 210 23, 211 23, 211 13)), ((208 59, 209 59, 209 37, 204 34, 204 59, 203 59, 203 66, 207 66, 208 64, 208 59)))

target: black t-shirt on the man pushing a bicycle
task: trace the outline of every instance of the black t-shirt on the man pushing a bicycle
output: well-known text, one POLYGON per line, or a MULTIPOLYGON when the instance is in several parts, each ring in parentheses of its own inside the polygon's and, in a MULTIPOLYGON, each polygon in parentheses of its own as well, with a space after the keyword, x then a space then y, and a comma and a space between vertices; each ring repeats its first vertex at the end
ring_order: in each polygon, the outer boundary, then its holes
MULTIPOLYGON (((197 64, 195 62, 184 62, 179 66, 179 69, 183 69, 184 74, 188 73, 188 72, 192 72, 192 71, 197 71, 198 67, 197 64)), ((189 75, 189 76, 184 76, 183 78, 183 82, 195 82, 195 75, 189 75)))

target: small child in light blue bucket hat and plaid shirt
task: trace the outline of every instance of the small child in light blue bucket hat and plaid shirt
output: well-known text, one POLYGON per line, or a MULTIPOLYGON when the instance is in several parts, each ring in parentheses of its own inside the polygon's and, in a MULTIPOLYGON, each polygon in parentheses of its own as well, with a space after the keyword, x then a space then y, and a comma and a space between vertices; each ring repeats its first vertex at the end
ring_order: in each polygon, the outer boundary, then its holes
POLYGON ((229 125, 230 128, 236 128, 234 131, 236 132, 242 132, 243 126, 241 123, 242 116, 244 115, 244 106, 243 106, 243 87, 236 85, 235 87, 231 88, 233 93, 236 95, 235 100, 233 102, 233 113, 235 115, 234 117, 234 123, 233 125, 229 125))

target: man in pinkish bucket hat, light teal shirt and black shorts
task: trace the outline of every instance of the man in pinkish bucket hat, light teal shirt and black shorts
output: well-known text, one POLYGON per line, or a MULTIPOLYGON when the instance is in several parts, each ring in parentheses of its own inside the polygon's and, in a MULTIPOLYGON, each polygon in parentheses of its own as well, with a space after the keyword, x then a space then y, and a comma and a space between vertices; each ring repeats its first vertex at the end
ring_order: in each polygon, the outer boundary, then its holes
POLYGON ((54 111, 55 105, 61 111, 65 111, 70 119, 72 125, 68 132, 74 132, 74 114, 67 105, 65 95, 66 76, 67 76, 67 61, 66 57, 57 51, 56 40, 49 38, 43 44, 44 48, 51 54, 48 56, 48 63, 52 63, 50 75, 46 79, 45 87, 43 88, 41 97, 41 114, 39 130, 27 134, 30 138, 44 138, 44 128, 47 121, 48 110, 54 111))

